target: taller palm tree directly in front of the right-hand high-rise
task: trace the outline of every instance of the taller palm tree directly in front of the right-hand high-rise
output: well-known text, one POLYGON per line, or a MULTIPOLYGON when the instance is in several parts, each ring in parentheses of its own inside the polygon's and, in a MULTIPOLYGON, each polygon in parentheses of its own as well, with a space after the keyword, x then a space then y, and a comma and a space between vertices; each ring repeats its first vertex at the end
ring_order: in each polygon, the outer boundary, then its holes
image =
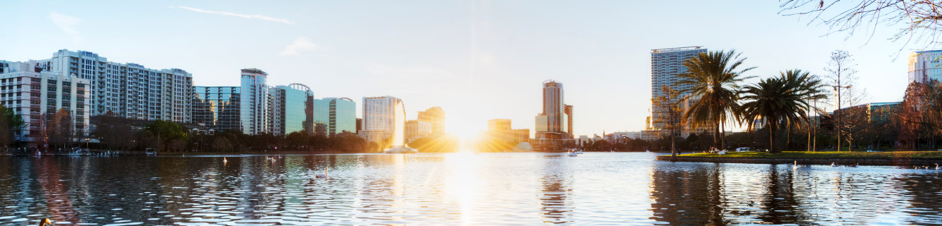
POLYGON ((739 69, 746 59, 739 54, 736 50, 697 54, 684 61, 688 72, 678 75, 684 99, 694 100, 684 119, 692 128, 712 128, 713 144, 720 135, 721 148, 726 146, 726 122, 739 122, 734 113, 739 108, 739 83, 752 78, 742 73, 755 68, 739 69))

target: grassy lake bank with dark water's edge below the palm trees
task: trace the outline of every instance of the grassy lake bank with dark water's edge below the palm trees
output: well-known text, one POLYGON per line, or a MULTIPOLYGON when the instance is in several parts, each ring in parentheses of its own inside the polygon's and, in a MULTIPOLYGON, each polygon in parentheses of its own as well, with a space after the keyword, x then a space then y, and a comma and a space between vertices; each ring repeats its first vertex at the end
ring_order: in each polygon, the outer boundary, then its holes
MULTIPOLYGON (((794 164, 802 165, 874 165, 874 166, 932 166, 942 163, 942 152, 783 152, 780 154, 767 153, 737 153, 727 154, 729 157, 717 154, 686 154, 677 155, 678 162, 710 162, 710 163, 748 163, 748 164, 794 164), (829 157, 830 156, 830 157, 829 157)), ((671 156, 658 156, 660 161, 670 161, 671 156)))

